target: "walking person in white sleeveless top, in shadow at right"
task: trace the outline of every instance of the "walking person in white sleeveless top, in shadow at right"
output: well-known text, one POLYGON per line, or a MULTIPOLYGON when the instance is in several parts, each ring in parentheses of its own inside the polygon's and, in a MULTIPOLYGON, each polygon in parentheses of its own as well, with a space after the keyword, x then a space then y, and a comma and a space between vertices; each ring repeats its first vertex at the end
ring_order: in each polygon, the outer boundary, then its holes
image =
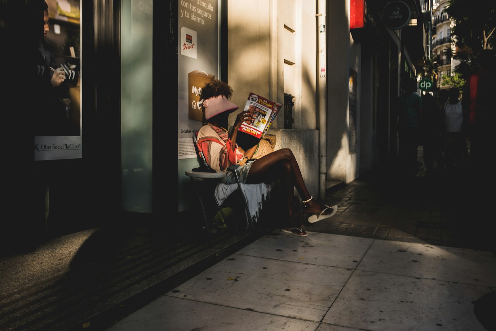
POLYGON ((444 129, 446 132, 444 157, 447 172, 452 172, 455 166, 463 166, 467 150, 466 121, 459 97, 460 90, 451 87, 448 91, 448 101, 444 104, 444 129))

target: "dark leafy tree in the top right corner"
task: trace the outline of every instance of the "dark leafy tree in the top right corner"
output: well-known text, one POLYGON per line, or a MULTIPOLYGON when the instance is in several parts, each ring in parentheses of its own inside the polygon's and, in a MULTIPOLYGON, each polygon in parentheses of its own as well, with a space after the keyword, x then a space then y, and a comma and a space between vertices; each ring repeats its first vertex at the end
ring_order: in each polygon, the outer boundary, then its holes
POLYGON ((444 11, 455 23, 453 59, 461 62, 455 69, 466 78, 478 67, 477 55, 496 46, 496 1, 448 0, 444 11))

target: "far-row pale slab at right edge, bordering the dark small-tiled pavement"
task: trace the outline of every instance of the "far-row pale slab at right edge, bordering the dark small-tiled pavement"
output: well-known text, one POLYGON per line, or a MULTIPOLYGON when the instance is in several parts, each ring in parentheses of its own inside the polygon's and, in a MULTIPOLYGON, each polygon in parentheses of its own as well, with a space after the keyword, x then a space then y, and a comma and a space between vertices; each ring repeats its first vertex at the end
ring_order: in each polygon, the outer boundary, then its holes
POLYGON ((376 240, 357 269, 496 286, 495 255, 463 248, 376 240))

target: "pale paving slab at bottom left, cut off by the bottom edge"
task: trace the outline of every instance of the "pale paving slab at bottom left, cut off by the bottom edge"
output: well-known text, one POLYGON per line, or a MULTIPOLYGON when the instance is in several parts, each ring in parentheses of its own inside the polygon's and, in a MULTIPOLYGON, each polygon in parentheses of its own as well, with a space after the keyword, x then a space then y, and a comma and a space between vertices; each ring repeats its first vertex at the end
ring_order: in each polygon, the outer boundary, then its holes
MULTIPOLYGON (((316 322, 162 296, 137 312, 127 316, 107 330, 313 331, 317 327, 318 323, 316 322)), ((337 330, 339 329, 336 329, 336 331, 337 330)))

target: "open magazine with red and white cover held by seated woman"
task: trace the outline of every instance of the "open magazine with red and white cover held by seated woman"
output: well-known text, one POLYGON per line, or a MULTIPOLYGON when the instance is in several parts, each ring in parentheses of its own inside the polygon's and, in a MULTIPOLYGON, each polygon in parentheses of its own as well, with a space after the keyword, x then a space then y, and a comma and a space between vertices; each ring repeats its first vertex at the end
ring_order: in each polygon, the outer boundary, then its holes
POLYGON ((250 93, 245 105, 245 111, 248 110, 251 117, 249 121, 241 124, 239 131, 250 134, 257 140, 263 138, 281 107, 282 104, 280 103, 270 101, 255 93, 250 93))

